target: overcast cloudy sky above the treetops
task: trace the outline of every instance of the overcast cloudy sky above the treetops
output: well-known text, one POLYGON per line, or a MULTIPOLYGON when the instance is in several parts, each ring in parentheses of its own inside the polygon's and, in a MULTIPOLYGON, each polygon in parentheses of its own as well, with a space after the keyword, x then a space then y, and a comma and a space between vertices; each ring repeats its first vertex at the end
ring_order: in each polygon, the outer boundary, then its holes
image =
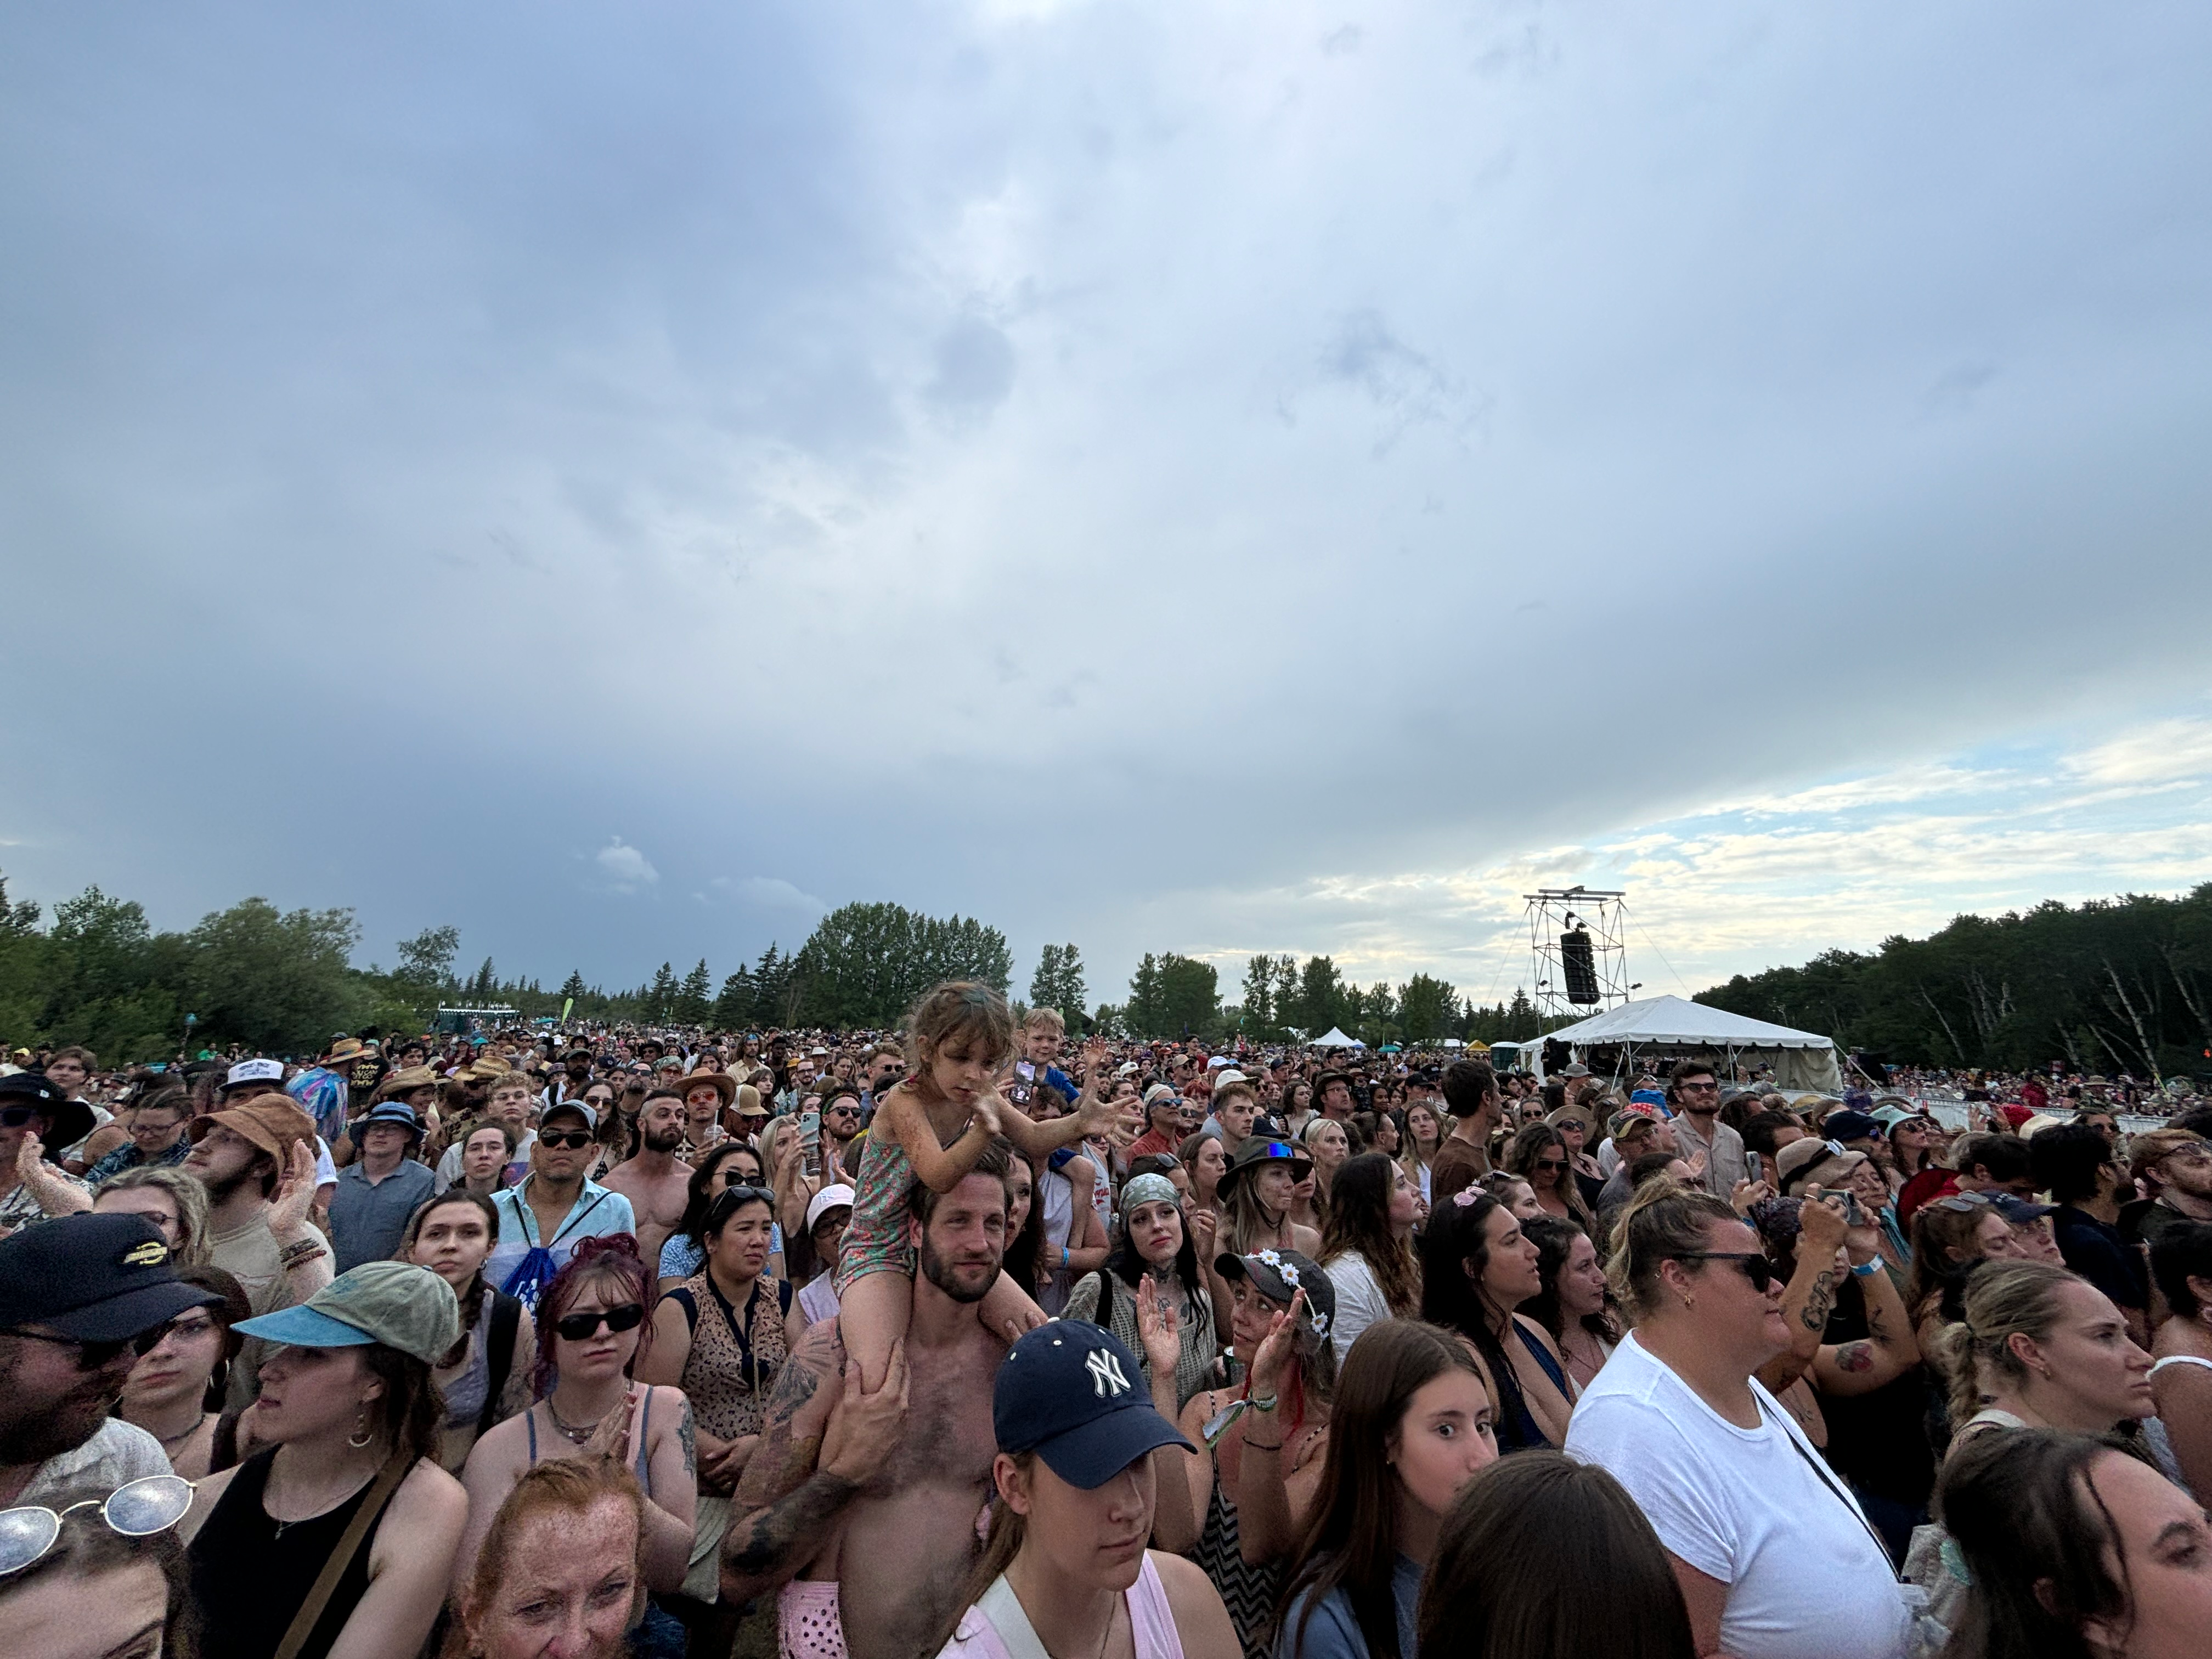
POLYGON ((0 46, 15 896, 1484 998, 1533 880, 1681 991, 2212 876, 2201 4, 0 46))

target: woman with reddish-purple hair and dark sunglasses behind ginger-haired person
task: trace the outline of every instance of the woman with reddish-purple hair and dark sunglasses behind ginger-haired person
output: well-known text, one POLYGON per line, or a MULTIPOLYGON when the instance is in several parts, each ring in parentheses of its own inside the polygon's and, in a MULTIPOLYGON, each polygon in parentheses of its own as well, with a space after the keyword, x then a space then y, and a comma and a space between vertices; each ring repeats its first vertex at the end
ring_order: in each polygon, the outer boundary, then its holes
MULTIPOLYGON (((646 1584, 675 1593, 690 1566, 695 1484, 690 1402, 681 1389, 633 1383, 653 1352, 646 1301, 653 1281, 628 1234, 586 1239, 538 1301, 538 1387, 520 1418, 493 1427, 462 1469, 469 1528, 451 1557, 453 1590, 524 1469, 546 1458, 615 1458, 646 1493, 646 1584)), ((672 1626, 661 1615, 655 1624, 672 1626)))

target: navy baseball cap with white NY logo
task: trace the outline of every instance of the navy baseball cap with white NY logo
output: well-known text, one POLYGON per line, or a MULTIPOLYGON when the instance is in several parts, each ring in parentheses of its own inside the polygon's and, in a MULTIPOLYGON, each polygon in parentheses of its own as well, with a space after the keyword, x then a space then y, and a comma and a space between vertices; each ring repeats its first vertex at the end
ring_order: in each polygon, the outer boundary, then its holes
POLYGON ((1006 1349, 991 1387, 991 1427, 1000 1451, 1035 1451, 1084 1491, 1159 1447, 1197 1451, 1152 1407, 1137 1356, 1082 1318, 1037 1325, 1006 1349))

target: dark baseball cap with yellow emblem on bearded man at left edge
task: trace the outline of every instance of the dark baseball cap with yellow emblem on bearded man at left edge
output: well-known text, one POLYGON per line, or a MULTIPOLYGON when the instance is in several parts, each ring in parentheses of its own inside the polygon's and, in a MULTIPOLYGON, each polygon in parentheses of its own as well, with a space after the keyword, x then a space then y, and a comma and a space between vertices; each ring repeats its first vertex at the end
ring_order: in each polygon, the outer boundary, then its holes
POLYGON ((0 1239, 0 1329, 51 1325, 82 1343, 124 1343, 219 1301, 177 1281, 142 1214, 55 1217, 0 1239))

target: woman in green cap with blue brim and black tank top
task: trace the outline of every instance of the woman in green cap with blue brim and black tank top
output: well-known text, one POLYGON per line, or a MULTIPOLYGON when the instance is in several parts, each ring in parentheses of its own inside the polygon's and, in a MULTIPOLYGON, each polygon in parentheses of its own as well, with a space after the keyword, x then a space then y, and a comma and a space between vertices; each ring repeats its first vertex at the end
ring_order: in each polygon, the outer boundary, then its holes
POLYGON ((272 1659, 301 1628, 299 1659, 411 1659, 469 1515, 438 1467, 429 1380, 460 1334, 453 1292, 422 1267, 367 1261, 239 1332, 274 1345, 248 1413, 265 1449, 199 1482, 181 1524, 204 1652, 272 1659), (316 1608, 332 1559, 341 1573, 316 1608))

